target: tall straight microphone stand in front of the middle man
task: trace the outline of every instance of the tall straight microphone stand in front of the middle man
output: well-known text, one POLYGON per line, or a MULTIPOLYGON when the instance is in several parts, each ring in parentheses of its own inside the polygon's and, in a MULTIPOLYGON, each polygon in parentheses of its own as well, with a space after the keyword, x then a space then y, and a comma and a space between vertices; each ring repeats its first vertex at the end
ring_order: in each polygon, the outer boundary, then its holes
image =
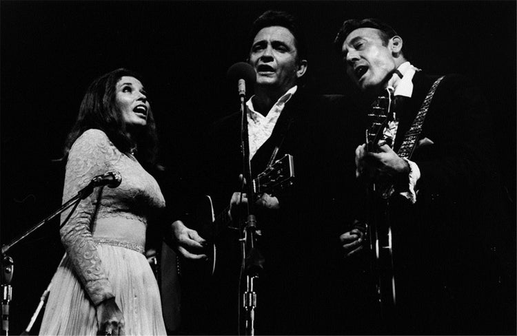
MULTIPOLYGON (((243 80, 240 80, 243 81, 243 80)), ((255 246, 256 217, 254 215, 254 186, 252 185, 252 170, 250 165, 250 142, 247 131, 247 109, 245 105, 245 93, 239 92, 241 98, 241 153, 243 155, 243 177, 250 181, 246 185, 247 206, 246 221, 243 229, 244 272, 246 275, 246 290, 243 294, 243 308, 245 310, 245 335, 255 335, 255 307, 256 292, 254 281, 259 276, 264 262, 261 253, 255 246)), ((242 193, 241 193, 242 195, 242 193)))

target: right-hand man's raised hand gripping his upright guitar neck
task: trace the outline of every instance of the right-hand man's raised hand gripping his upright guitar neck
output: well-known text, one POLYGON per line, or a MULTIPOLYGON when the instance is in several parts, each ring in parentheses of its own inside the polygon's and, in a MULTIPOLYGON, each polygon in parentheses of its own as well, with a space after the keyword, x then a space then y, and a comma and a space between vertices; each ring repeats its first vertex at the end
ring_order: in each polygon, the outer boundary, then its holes
POLYGON ((356 178, 374 182, 407 181, 409 163, 386 144, 379 143, 378 150, 378 153, 367 151, 366 144, 356 148, 356 178))

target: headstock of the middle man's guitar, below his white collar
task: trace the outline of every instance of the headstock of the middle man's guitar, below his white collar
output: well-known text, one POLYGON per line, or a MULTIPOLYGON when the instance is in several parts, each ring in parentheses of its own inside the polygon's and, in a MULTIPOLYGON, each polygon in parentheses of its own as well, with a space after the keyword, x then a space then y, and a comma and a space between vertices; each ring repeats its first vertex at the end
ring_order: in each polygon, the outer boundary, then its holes
POLYGON ((254 192, 274 195, 292 185, 293 180, 294 160, 292 155, 285 154, 253 180, 254 192))

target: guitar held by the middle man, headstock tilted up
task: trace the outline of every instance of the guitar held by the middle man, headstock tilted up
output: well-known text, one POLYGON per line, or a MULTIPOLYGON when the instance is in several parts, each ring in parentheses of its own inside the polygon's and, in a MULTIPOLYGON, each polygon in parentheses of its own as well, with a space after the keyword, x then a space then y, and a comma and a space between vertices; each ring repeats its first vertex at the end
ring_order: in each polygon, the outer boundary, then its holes
MULTIPOLYGON (((274 196, 293 183, 294 160, 292 155, 285 154, 283 158, 274 162, 273 165, 267 167, 252 180, 252 188, 256 196, 261 193, 274 196)), ((214 274, 217 264, 215 242, 221 231, 229 227, 232 222, 228 215, 229 210, 230 206, 226 207, 218 216, 214 216, 214 207, 210 196, 203 196, 196 204, 196 209, 192 214, 192 222, 187 226, 196 230, 206 240, 207 246, 203 249, 203 253, 207 255, 207 260, 184 260, 181 258, 180 273, 182 277, 189 276, 187 273, 195 273, 196 277, 201 278, 214 274)), ((235 227, 230 228, 239 230, 235 227)))

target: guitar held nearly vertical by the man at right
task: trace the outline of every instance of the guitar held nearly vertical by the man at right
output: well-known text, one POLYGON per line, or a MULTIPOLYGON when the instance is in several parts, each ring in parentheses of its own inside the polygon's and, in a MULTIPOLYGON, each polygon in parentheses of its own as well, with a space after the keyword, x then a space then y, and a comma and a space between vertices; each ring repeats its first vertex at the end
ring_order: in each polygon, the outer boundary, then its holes
MULTIPOLYGON (((387 96, 379 96, 372 104, 368 114, 369 127, 366 129, 366 149, 378 152, 378 142, 385 140, 385 131, 392 115, 392 90, 387 89, 387 96)), ((370 183, 367 188, 369 218, 367 235, 372 252, 371 271, 374 275, 378 304, 381 315, 387 319, 396 306, 395 276, 393 269, 392 229, 389 222, 389 197, 393 193, 392 185, 370 183)))

